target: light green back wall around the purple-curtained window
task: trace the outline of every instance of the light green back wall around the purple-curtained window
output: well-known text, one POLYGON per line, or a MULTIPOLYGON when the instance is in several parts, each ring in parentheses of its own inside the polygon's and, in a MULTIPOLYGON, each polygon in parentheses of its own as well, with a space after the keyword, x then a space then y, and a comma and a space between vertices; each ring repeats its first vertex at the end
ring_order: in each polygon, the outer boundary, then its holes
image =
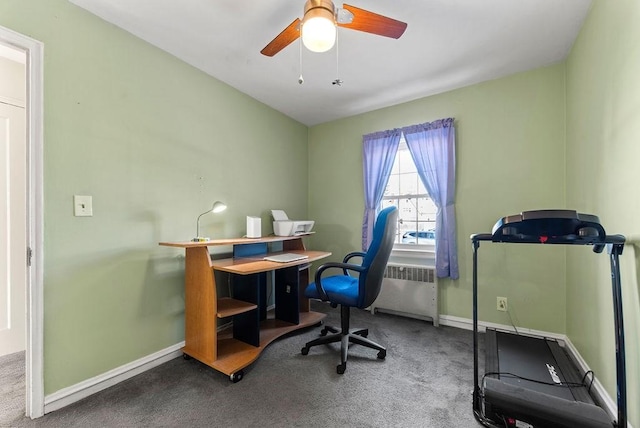
MULTIPOLYGON (((315 247, 338 259, 360 250, 364 211, 362 135, 456 119, 456 223, 460 279, 440 281, 440 311, 471 318, 469 236, 529 209, 564 207, 564 65, 423 98, 309 130, 309 215, 315 247)), ((518 325, 565 330, 565 259, 559 248, 483 244, 480 316, 506 296, 518 325)))

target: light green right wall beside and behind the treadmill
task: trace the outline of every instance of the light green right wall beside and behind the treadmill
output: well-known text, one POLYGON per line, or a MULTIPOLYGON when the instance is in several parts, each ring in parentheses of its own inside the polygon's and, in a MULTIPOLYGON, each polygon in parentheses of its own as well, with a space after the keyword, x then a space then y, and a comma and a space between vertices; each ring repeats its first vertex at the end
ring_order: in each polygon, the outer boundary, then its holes
MULTIPOLYGON (((567 204, 626 235, 621 257, 629 420, 640 426, 640 3, 595 0, 567 60, 567 204)), ((612 397, 611 279, 606 256, 572 253, 567 332, 612 397)))

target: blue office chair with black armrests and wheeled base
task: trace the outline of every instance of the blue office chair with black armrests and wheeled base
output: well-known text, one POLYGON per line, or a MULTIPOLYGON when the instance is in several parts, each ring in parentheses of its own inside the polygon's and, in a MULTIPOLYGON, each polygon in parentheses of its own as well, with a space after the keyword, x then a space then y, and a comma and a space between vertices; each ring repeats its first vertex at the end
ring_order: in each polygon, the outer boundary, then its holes
POLYGON ((302 348, 302 355, 307 355, 312 346, 341 342, 341 362, 337 367, 338 374, 343 374, 347 368, 347 351, 350 343, 377 349, 378 358, 381 360, 387 356, 386 348, 366 338, 369 334, 368 329, 349 329, 349 314, 352 307, 366 308, 378 297, 389 254, 393 248, 397 224, 398 209, 396 207, 385 208, 378 214, 373 229, 373 241, 366 253, 349 253, 344 257, 342 263, 325 263, 318 268, 315 282, 309 284, 304 294, 310 299, 329 302, 333 308, 340 305, 342 329, 325 326, 320 331, 321 336, 326 336, 329 331, 336 334, 308 342, 302 348), (361 257, 362 264, 348 263, 353 257, 361 257), (323 278, 323 273, 331 268, 342 269, 344 274, 323 278), (351 276, 350 271, 357 273, 357 275, 351 276))

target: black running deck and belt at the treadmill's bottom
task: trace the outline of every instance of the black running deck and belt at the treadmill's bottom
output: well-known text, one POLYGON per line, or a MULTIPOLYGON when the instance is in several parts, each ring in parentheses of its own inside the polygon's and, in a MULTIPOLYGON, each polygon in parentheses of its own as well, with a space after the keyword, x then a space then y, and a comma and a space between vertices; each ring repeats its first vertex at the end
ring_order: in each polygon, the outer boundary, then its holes
POLYGON ((504 415, 535 427, 612 426, 555 340, 487 329, 485 352, 484 405, 492 420, 504 415))

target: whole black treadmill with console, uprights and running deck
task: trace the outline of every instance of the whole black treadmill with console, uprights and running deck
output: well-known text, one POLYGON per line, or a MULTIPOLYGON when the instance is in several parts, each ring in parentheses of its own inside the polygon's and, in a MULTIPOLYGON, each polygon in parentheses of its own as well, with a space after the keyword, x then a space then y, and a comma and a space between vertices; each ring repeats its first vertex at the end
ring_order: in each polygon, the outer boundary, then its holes
POLYGON ((473 413, 487 427, 627 426, 626 375, 619 256, 625 237, 607 235, 597 216, 572 210, 525 211, 503 217, 492 233, 471 235, 473 244, 473 413), (616 340, 617 421, 590 394, 593 374, 580 372, 557 341, 486 329, 485 373, 478 366, 478 248, 482 241, 590 245, 606 248, 616 340), (590 376, 589 376, 590 375, 590 376), (480 382, 480 380, 482 382, 480 382), (482 384, 481 384, 482 383, 482 384))

